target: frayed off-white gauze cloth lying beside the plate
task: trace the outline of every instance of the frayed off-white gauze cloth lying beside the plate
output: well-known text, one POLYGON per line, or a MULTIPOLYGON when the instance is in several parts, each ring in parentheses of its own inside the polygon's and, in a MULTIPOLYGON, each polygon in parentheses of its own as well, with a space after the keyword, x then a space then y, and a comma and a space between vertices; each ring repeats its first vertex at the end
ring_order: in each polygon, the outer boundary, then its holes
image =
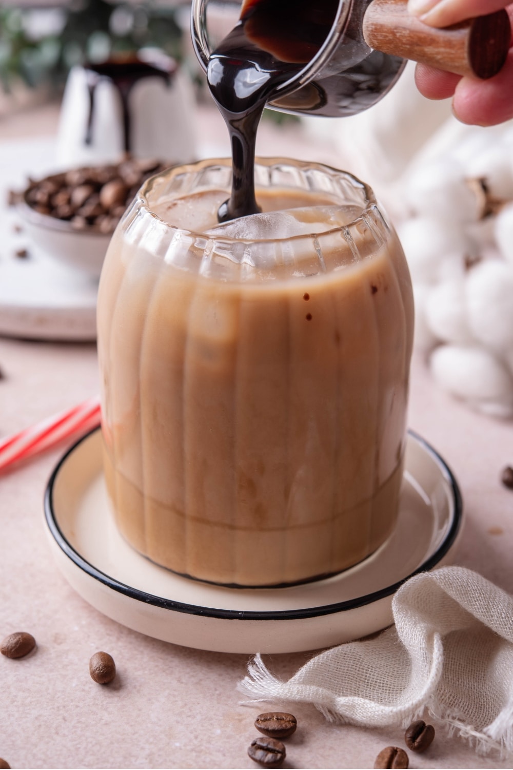
POLYGON ((513 752, 513 598, 464 567, 411 577, 395 625, 311 658, 288 681, 259 654, 238 688, 253 700, 310 702, 329 720, 408 725, 425 708, 481 752, 513 752))

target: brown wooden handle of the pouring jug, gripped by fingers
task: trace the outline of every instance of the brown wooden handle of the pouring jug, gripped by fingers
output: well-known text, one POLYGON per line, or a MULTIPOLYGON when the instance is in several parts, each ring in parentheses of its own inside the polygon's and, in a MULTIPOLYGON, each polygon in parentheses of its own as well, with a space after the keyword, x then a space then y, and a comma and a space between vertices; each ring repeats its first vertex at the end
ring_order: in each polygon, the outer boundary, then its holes
POLYGON ((497 75, 511 42, 505 10, 436 29, 408 13, 406 3, 407 0, 371 2, 363 21, 363 36, 371 49, 456 75, 482 79, 497 75))

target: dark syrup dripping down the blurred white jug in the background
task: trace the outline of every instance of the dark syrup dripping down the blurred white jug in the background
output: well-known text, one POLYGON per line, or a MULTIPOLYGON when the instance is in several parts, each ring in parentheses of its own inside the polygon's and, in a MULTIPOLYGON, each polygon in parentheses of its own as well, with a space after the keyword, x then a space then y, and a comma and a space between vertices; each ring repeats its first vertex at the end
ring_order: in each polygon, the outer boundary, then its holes
POLYGON ((92 142, 92 120, 95 112, 95 91, 99 82, 109 80, 118 89, 122 102, 123 115, 123 149, 125 152, 132 150, 132 122, 130 119, 130 110, 128 109, 128 97, 135 83, 144 78, 162 78, 169 85, 172 81, 172 75, 175 72, 172 61, 169 60, 168 66, 142 62, 140 59, 109 59, 100 64, 88 64, 85 67, 89 92, 89 114, 87 129, 85 132, 85 144, 92 142))

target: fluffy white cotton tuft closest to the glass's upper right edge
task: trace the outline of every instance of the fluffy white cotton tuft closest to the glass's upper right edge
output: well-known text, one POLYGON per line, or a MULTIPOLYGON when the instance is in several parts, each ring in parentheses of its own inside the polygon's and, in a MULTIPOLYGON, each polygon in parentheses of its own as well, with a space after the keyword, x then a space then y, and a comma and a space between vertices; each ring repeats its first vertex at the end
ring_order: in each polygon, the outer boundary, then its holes
POLYGON ((468 250, 461 228, 441 223, 428 216, 406 219, 398 226, 398 236, 405 250, 413 283, 435 283, 443 260, 468 250))

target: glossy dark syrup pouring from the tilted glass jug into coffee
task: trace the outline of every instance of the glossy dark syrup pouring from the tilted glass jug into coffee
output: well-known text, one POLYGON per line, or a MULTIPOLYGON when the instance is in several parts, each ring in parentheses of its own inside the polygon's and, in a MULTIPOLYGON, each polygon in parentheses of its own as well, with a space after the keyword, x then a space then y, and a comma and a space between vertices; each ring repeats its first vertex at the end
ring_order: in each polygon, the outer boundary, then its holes
POLYGON ((260 211, 255 199, 255 144, 265 104, 325 42, 338 0, 247 0, 232 32, 208 61, 208 86, 232 143, 232 196, 219 222, 260 211))

